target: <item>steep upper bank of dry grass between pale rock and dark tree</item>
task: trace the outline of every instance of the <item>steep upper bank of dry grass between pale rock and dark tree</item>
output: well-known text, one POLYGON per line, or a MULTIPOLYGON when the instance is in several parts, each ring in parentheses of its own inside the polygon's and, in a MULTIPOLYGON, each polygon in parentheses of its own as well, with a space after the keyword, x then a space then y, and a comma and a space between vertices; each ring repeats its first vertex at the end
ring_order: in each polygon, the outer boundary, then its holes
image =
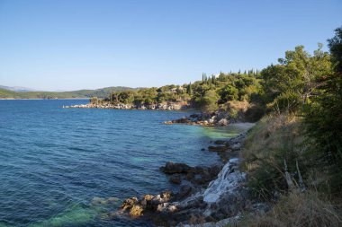
POLYGON ((293 181, 298 180, 296 162, 301 172, 305 165, 302 141, 301 124, 293 115, 266 116, 248 132, 240 155, 248 174, 248 187, 254 196, 267 200, 286 192, 284 162, 293 181))

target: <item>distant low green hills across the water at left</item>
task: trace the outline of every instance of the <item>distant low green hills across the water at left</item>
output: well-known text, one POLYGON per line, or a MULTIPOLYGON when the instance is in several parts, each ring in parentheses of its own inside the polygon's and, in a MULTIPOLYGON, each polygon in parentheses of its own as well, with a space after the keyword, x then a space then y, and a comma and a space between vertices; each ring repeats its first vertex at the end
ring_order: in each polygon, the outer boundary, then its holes
POLYGON ((139 88, 107 87, 96 90, 78 90, 73 92, 14 92, 0 87, 0 99, 68 99, 68 98, 105 98, 112 92, 134 91, 139 88))

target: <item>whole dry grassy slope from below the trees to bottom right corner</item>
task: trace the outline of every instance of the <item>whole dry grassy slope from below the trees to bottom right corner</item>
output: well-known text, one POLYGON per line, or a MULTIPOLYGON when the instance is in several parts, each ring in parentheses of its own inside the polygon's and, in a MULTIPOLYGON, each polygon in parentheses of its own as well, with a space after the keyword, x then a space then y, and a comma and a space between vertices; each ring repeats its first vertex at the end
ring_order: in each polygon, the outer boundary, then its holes
POLYGON ((241 151, 248 186, 272 207, 266 214, 246 214, 227 227, 342 226, 340 198, 318 189, 326 175, 311 167, 314 161, 305 157, 304 139, 300 118, 284 114, 266 116, 249 130, 241 151), (284 180, 284 160, 293 178, 292 191, 284 180), (296 161, 306 185, 304 192, 298 188, 296 161))

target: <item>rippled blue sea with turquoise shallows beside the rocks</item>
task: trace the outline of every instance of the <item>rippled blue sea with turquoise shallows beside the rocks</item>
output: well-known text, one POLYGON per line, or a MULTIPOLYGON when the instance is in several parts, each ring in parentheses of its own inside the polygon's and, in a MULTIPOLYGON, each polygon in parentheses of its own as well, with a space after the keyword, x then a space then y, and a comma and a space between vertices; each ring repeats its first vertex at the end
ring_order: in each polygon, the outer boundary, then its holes
POLYGON ((0 100, 0 227, 149 225, 109 214, 126 197, 176 190, 165 162, 220 162, 201 149, 240 130, 162 124, 188 112, 61 108, 86 102, 0 100))

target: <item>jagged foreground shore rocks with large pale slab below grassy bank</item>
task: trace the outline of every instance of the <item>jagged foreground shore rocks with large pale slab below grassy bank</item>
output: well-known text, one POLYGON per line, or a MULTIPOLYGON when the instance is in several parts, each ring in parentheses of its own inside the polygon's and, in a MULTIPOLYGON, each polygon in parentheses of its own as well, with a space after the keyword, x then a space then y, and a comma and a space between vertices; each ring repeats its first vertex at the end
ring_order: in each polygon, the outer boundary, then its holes
POLYGON ((216 141, 217 146, 208 147, 230 157, 224 164, 191 167, 166 162, 160 170, 171 183, 179 185, 178 191, 127 198, 117 214, 143 218, 158 226, 222 226, 236 222, 247 212, 265 212, 266 205, 248 196, 246 173, 239 170, 238 151, 245 136, 216 141))

